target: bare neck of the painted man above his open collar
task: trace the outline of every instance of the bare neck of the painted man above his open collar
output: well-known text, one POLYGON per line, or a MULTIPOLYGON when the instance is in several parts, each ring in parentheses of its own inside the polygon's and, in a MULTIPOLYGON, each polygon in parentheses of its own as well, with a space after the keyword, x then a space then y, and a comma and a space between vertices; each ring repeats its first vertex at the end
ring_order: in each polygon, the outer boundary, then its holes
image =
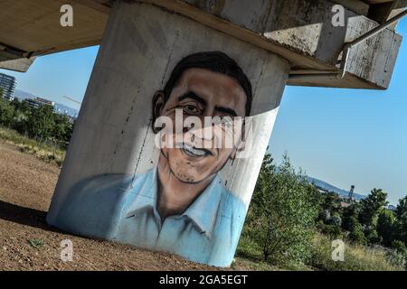
POLYGON ((158 163, 157 173, 158 196, 156 208, 162 220, 168 216, 184 213, 214 178, 213 176, 198 183, 181 182, 171 172, 168 164, 162 162, 162 160, 158 163))

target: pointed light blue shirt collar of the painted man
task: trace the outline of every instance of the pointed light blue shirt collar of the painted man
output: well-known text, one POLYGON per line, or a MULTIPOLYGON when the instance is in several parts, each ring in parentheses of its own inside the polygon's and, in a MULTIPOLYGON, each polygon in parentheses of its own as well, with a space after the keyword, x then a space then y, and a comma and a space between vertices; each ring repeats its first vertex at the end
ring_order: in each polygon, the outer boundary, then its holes
MULTIPOLYGON (((160 219, 156 210, 157 187, 156 169, 136 178, 132 188, 136 188, 137 195, 128 207, 126 218, 135 216, 139 211, 150 209, 154 211, 156 219, 160 219), (140 189, 137 190, 137 187, 140 189)), ((216 174, 213 182, 194 200, 188 209, 182 215, 173 216, 173 218, 187 217, 195 227, 199 228, 201 233, 205 233, 208 238, 211 238, 222 196, 222 190, 219 190, 219 187, 222 187, 222 180, 216 174)))

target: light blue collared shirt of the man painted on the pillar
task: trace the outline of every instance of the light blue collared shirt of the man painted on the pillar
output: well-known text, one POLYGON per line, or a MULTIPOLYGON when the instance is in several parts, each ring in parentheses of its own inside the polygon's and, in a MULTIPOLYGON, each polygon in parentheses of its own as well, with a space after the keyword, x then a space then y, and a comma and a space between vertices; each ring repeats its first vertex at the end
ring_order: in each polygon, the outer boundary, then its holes
POLYGON ((74 186, 57 227, 166 251, 212 266, 230 266, 246 206, 222 186, 218 175, 181 215, 161 220, 156 210, 156 169, 136 178, 106 174, 74 186))

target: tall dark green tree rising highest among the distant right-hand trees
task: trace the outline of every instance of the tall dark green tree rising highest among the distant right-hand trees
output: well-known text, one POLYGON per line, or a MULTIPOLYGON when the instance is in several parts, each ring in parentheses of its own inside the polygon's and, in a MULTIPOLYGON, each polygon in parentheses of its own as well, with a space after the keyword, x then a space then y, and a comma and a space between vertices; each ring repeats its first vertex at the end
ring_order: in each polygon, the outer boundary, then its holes
POLYGON ((388 204, 387 193, 382 189, 373 189, 370 194, 361 201, 359 220, 365 227, 375 227, 375 222, 380 210, 388 204))

